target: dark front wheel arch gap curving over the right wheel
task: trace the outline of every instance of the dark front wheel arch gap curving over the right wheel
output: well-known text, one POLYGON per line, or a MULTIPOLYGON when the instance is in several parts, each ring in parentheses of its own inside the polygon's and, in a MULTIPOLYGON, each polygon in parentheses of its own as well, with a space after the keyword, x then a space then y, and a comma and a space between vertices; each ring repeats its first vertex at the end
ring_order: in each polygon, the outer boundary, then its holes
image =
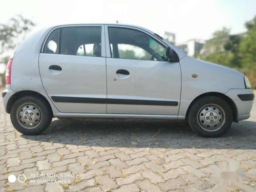
POLYGON ((197 97, 190 103, 190 105, 188 106, 188 109, 187 109, 187 112, 186 112, 186 119, 187 119, 188 112, 189 112, 189 110, 191 109, 191 106, 193 105, 193 103, 195 103, 198 99, 200 99, 200 98, 202 98, 202 97, 205 97, 205 96, 216 96, 216 97, 220 97, 220 98, 222 98, 223 100, 225 100, 225 101, 229 104, 229 106, 230 106, 230 108, 231 108, 231 110, 232 110, 232 113, 233 113, 233 121, 234 121, 234 122, 238 122, 238 109, 237 109, 237 105, 234 103, 234 101, 233 101, 230 97, 224 95, 223 93, 219 93, 219 92, 208 92, 208 93, 204 93, 204 94, 201 94, 201 95, 197 96, 197 97))

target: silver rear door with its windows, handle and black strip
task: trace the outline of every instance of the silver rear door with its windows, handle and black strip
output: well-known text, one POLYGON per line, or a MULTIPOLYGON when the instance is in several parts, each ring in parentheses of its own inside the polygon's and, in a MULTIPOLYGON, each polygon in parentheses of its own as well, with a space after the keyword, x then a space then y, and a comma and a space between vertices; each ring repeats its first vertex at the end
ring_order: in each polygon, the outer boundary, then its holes
POLYGON ((63 113, 106 113, 103 25, 58 27, 39 55, 42 84, 63 113))

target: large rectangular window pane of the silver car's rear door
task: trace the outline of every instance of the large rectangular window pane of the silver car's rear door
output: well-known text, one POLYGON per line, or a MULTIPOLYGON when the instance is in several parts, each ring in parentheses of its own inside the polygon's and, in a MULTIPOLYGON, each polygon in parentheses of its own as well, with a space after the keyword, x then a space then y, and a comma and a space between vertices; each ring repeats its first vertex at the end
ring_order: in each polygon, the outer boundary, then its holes
POLYGON ((63 27, 60 54, 101 57, 101 27, 63 27))

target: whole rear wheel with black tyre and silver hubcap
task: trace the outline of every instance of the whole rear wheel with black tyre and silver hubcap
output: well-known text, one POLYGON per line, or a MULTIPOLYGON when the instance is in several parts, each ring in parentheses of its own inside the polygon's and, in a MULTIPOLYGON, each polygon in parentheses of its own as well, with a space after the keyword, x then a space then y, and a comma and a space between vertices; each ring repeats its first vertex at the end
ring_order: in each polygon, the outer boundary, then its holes
POLYGON ((11 121, 15 129, 25 135, 36 135, 47 129, 52 121, 49 103, 35 96, 17 99, 11 108, 11 121))

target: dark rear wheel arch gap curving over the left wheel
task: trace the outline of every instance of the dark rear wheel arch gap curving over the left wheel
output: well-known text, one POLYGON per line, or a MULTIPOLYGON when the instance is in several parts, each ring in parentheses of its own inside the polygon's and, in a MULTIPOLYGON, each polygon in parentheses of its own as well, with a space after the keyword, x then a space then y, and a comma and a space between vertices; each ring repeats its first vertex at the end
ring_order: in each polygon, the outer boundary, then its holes
MULTIPOLYGON (((6 112, 7 112, 7 113, 10 113, 10 112, 11 112, 12 105, 13 105, 13 103, 14 103, 17 99, 19 99, 20 97, 29 96, 29 95, 30 95, 30 96, 40 97, 40 98, 44 99, 44 100, 48 103, 48 105, 49 105, 49 107, 50 107, 50 109, 51 109, 51 112, 52 112, 51 104, 50 104, 49 101, 46 99, 46 97, 45 97, 44 95, 38 93, 38 92, 30 91, 30 90, 19 91, 19 92, 16 92, 15 94, 13 94, 13 95, 9 98, 9 100, 8 100, 8 102, 7 102, 6 112)), ((53 112, 52 112, 52 116, 53 116, 53 112)))

